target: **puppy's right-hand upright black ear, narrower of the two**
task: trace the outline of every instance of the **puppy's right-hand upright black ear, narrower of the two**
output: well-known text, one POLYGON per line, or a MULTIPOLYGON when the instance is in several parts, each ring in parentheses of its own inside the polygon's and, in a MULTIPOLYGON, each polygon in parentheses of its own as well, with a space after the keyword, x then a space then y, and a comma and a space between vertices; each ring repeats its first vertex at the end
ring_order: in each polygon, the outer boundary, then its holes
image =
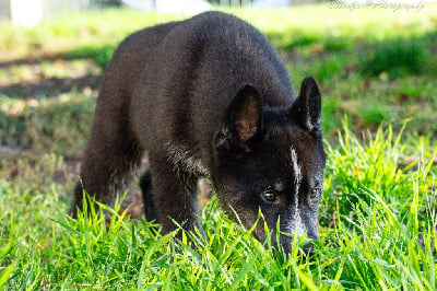
POLYGON ((300 93, 288 110, 290 117, 315 137, 321 137, 321 95, 312 77, 306 77, 300 93))

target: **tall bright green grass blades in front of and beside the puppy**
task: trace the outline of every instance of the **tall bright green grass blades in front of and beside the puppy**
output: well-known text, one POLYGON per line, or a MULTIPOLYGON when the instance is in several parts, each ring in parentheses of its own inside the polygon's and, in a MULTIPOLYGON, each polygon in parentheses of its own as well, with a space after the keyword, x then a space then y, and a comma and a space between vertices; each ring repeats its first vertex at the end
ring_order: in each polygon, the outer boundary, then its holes
POLYGON ((364 142, 347 127, 344 132, 339 149, 328 148, 321 240, 312 257, 298 251, 303 242, 291 254, 259 243, 216 198, 201 213, 205 235, 184 233, 178 241, 154 223, 127 219, 120 203, 104 207, 109 221, 92 206, 73 220, 60 209, 66 203, 55 186, 44 195, 21 193, 2 181, 0 288, 437 288, 436 168, 423 160, 401 167, 403 147, 390 127, 364 142))

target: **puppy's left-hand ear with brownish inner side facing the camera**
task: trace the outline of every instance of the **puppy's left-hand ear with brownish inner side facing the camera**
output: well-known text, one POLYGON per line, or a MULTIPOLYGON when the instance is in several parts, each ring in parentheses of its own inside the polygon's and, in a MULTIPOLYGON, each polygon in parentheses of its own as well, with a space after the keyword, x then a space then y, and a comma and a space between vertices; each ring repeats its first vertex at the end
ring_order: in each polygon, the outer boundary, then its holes
POLYGON ((246 84, 227 106, 214 144, 217 149, 249 152, 262 132, 261 98, 252 85, 246 84))

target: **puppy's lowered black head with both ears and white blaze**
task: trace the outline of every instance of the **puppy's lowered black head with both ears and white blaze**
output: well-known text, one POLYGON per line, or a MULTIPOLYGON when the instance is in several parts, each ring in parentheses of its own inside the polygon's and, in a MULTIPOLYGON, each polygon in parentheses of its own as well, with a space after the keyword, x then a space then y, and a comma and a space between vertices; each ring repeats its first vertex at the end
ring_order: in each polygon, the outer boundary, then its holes
MULTIPOLYGON (((316 81, 305 78, 287 109, 263 107, 251 85, 238 91, 214 139, 212 179, 222 207, 247 228, 261 210, 290 252, 293 234, 319 238, 318 207, 323 188, 326 153, 320 126, 321 96, 316 81)), ((265 233, 255 230, 258 240, 265 233)), ((275 243, 276 235, 272 235, 275 243)))

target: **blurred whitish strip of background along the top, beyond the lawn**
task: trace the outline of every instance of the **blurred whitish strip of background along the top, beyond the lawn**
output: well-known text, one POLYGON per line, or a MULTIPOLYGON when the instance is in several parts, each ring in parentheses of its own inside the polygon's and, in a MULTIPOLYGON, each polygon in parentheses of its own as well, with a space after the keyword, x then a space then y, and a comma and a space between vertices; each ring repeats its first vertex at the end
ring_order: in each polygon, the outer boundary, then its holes
MULTIPOLYGON (((336 3, 390 5, 425 3, 435 0, 340 0, 336 3)), ((164 13, 199 13, 212 7, 277 8, 328 2, 327 0, 1 0, 0 20, 12 21, 19 26, 33 26, 59 12, 83 11, 96 8, 129 7, 164 13)))

